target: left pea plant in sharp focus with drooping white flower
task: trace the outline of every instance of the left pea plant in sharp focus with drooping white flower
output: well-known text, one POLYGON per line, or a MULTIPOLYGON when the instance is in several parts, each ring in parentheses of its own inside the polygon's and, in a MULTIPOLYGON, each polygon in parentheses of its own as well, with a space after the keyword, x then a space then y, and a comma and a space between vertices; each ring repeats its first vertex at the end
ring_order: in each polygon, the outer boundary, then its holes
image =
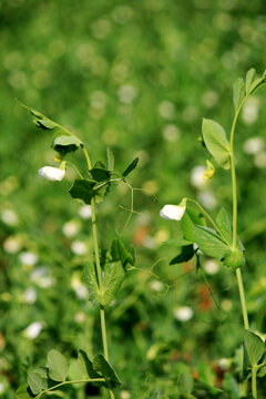
POLYGON ((85 144, 76 135, 37 110, 23 106, 31 113, 33 122, 39 129, 53 134, 54 160, 60 163, 59 167, 43 166, 39 170, 39 174, 49 181, 60 182, 64 178, 66 167, 73 167, 78 178, 74 180, 69 193, 72 198, 91 206, 94 254, 91 262, 84 267, 84 275, 89 289, 89 299, 100 311, 103 355, 99 354, 91 359, 83 349, 80 349, 78 354, 80 378, 70 380, 68 378, 69 360, 57 349, 51 349, 47 355, 43 367, 37 367, 29 372, 27 385, 17 390, 17 398, 40 399, 47 395, 62 396, 60 389, 65 385, 90 382, 105 389, 109 397, 113 399, 115 398, 114 389, 121 385, 121 381, 109 360, 105 309, 115 299, 126 272, 133 268, 135 255, 134 248, 125 248, 119 238, 113 239, 109 250, 100 249, 95 205, 104 200, 112 185, 124 183, 133 191, 126 182, 126 177, 136 167, 139 158, 134 158, 122 174, 117 174, 113 171, 113 153, 108 149, 106 164, 98 161, 93 165, 85 144), (69 153, 75 151, 82 151, 84 155, 88 168, 84 176, 75 164, 65 160, 69 153))

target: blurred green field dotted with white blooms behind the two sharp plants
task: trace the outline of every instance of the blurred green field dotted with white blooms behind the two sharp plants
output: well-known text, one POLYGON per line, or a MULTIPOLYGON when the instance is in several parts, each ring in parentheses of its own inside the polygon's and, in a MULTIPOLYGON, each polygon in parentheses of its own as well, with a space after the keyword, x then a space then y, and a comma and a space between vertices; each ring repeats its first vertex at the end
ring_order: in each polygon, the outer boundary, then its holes
MULTIPOLYGON (((88 209, 68 194, 71 170, 60 184, 38 175, 43 165, 55 166, 51 136, 34 127, 16 99, 75 132, 94 161, 105 158, 106 146, 120 172, 140 157, 131 183, 143 191, 134 193, 136 213, 125 232, 126 187, 98 208, 102 247, 123 233, 141 269, 129 274, 108 313, 120 397, 174 398, 167 389, 173 391, 181 365, 197 374, 205 362, 218 378, 219 360, 232 358, 242 342, 234 275, 205 259, 223 321, 195 265, 168 266, 176 248, 163 242, 178 234, 178 224, 158 211, 193 196, 214 215, 221 203, 231 212, 229 174, 217 170, 213 181, 202 181, 207 152, 197 137, 203 116, 228 132, 234 80, 252 66, 265 70, 265 2, 0 0, 0 397, 14 398, 27 371, 43 364, 52 347, 69 357, 80 347, 101 350, 82 272, 92 257, 88 209)), ((245 105, 236 133, 244 282, 252 328, 260 332, 265 106, 262 89, 245 105)), ((74 157, 84 167, 81 154, 74 157)), ((85 388, 70 388, 64 397, 85 398, 85 388)))

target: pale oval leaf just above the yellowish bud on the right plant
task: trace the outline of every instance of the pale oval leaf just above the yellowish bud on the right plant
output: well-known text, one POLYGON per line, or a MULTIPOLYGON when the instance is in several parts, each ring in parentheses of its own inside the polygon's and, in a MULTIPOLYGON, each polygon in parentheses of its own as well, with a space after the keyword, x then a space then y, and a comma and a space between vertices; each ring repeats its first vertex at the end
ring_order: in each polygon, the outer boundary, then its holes
POLYGON ((225 168, 228 168, 231 146, 224 129, 209 119, 203 119, 204 143, 213 157, 225 168))

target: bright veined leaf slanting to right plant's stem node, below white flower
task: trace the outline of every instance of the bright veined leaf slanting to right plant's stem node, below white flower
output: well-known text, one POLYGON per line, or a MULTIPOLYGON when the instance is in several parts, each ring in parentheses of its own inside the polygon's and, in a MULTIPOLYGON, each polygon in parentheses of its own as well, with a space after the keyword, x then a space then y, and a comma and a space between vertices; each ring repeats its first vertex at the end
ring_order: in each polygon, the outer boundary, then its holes
POLYGON ((208 256, 221 259, 229 247, 221 239, 217 232, 205 226, 194 226, 194 239, 200 249, 208 256))

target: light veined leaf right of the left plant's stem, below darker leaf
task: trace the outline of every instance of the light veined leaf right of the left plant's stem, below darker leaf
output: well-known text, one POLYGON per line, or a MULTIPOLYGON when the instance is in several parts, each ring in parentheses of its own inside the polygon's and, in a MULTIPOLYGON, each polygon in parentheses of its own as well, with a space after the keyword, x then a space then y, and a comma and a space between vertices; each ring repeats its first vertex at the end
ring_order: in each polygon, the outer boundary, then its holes
POLYGON ((120 262, 106 264, 101 293, 101 305, 108 306, 115 298, 124 280, 124 269, 120 262))

